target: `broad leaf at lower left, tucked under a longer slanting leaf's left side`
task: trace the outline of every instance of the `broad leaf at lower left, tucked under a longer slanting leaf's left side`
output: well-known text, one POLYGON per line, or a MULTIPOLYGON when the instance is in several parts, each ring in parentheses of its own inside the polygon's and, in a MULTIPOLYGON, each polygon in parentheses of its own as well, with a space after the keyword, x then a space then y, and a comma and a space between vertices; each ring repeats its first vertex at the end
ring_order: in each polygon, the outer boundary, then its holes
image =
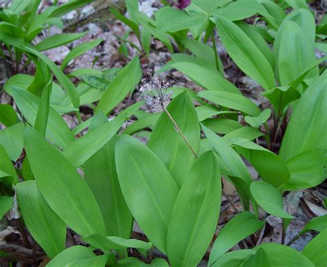
POLYGON ((66 224, 43 199, 36 181, 23 181, 16 189, 19 210, 30 234, 53 258, 66 248, 66 224))

